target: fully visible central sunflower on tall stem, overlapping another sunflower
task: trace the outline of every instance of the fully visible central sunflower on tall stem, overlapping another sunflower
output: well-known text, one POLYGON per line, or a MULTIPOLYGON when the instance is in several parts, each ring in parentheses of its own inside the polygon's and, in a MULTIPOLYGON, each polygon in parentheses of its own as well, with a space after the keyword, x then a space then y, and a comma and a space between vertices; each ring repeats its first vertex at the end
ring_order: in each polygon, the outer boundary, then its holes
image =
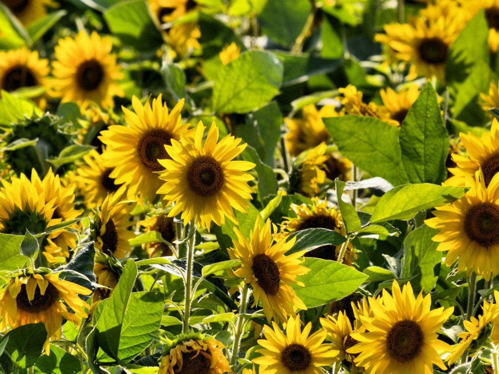
POLYGON ((227 135, 220 142, 219 129, 212 123, 203 146, 204 126, 200 122, 192 141, 181 133, 180 142, 172 139, 165 146, 171 159, 158 160, 166 170, 160 173, 165 181, 158 193, 165 194, 168 203, 175 202, 168 213, 173 217, 182 212, 182 219, 196 219, 198 225, 210 229, 211 221, 217 225, 225 216, 237 224, 233 207, 246 211, 253 189, 248 182, 253 177, 246 173, 255 164, 233 159, 244 151, 247 144, 227 135), (218 142, 218 143, 217 143, 218 142))

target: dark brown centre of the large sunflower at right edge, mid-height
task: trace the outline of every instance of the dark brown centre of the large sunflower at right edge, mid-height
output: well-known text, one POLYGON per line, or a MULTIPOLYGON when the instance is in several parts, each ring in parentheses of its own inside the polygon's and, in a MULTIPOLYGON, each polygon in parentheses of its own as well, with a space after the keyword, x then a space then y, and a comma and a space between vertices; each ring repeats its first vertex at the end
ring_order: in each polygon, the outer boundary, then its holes
POLYGON ((465 232, 484 247, 499 243, 499 207, 485 202, 472 206, 465 217, 465 232))

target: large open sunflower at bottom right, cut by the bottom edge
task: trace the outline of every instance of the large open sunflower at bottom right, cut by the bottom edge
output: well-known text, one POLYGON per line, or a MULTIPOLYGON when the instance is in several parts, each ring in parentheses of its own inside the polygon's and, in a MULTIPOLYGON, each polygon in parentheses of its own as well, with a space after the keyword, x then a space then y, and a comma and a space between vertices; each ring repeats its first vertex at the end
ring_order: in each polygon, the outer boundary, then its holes
POLYGON ((431 311, 431 296, 415 298, 410 283, 401 291, 394 280, 392 294, 383 289, 382 302, 369 298, 373 317, 359 317, 367 331, 353 333, 358 343, 347 349, 359 354, 354 363, 366 374, 433 374, 433 364, 446 370, 437 351, 450 347, 436 333, 454 308, 431 311))

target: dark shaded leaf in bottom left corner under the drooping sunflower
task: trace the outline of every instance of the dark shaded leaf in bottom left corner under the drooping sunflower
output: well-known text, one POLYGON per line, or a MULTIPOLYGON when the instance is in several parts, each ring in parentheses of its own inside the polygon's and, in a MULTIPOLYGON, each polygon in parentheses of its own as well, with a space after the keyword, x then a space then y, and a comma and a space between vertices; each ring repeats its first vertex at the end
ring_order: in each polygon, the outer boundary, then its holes
POLYGON ((5 334, 3 339, 8 343, 5 351, 21 368, 29 368, 41 356, 43 344, 47 339, 47 331, 43 323, 31 323, 19 326, 5 334))

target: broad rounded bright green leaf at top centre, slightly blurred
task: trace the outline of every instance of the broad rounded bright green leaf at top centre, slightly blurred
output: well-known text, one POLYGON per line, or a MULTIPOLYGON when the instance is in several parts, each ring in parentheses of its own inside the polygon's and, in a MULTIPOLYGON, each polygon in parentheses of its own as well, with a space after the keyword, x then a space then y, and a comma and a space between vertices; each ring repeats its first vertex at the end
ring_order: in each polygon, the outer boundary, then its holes
POLYGON ((246 113, 270 101, 282 81, 282 64, 269 52, 246 51, 223 66, 213 87, 217 113, 246 113))

